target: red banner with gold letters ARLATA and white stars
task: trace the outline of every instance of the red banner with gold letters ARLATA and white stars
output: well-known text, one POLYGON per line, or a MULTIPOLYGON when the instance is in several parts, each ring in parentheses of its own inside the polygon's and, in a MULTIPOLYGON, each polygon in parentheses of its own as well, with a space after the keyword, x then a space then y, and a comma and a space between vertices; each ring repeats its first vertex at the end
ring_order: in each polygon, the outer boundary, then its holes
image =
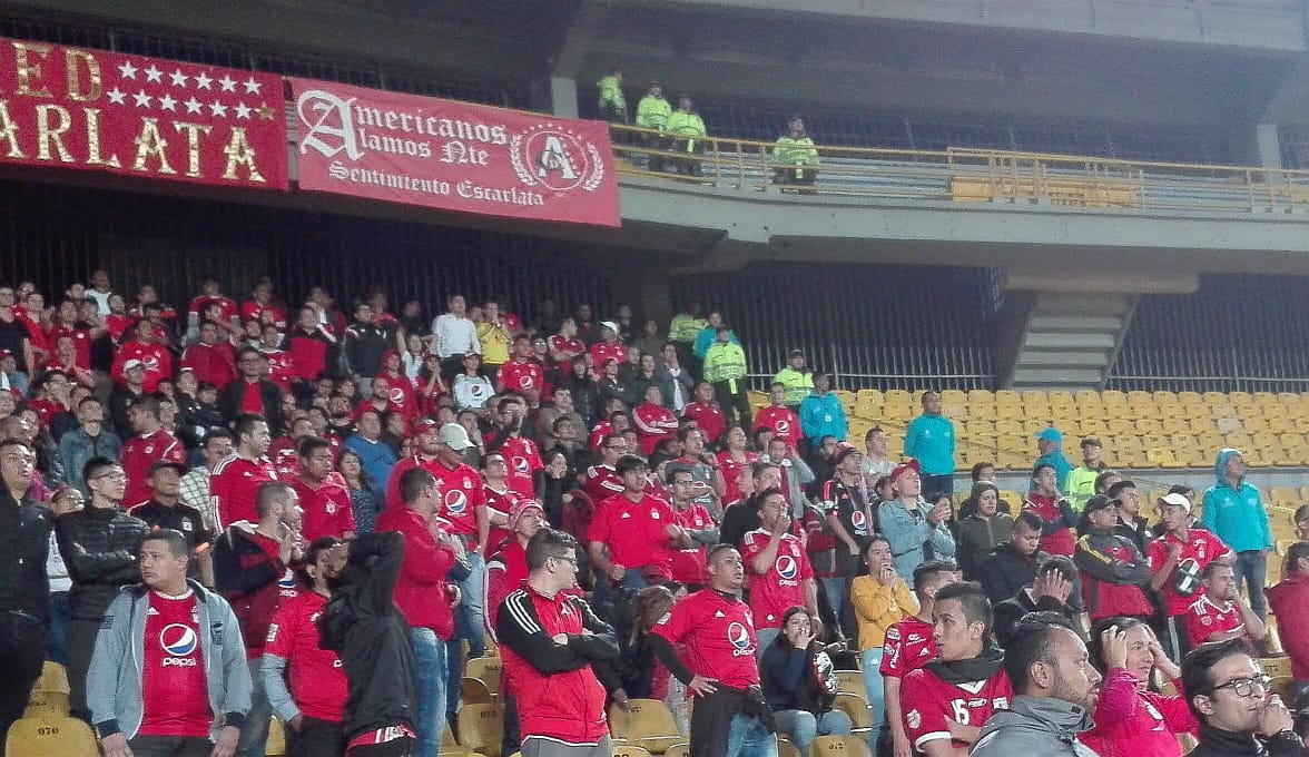
POLYGON ((287 189, 281 79, 0 39, 0 161, 287 189))

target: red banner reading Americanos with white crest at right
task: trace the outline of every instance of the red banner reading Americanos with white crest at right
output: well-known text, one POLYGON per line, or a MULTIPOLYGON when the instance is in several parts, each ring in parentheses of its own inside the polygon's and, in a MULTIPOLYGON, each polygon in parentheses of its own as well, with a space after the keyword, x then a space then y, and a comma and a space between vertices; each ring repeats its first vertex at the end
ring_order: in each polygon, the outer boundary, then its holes
POLYGON ((305 79, 291 88, 301 189, 619 225, 605 123, 305 79))

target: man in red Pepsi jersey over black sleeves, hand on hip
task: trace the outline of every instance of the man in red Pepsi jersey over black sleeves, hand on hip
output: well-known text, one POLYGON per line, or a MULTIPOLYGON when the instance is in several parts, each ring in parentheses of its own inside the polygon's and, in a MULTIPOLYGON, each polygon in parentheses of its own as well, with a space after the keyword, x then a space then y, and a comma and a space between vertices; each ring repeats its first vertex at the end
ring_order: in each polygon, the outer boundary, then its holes
POLYGON ((759 688, 754 614, 740 597, 745 570, 734 546, 709 550, 709 587, 673 605, 649 635, 654 656, 696 698, 692 757, 778 753, 772 715, 759 688), (685 661, 674 644, 685 648, 685 661))

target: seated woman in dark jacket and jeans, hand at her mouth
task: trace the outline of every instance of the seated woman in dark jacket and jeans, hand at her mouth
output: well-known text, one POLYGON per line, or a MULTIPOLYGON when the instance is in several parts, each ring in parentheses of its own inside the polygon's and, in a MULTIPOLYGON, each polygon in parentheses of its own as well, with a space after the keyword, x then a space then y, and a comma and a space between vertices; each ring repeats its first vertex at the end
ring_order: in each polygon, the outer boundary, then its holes
POLYGON ((850 715, 833 709, 836 674, 831 657, 805 608, 789 608, 781 616, 781 633, 759 659, 759 680, 778 733, 789 736, 801 754, 809 754, 817 736, 850 733, 850 715))

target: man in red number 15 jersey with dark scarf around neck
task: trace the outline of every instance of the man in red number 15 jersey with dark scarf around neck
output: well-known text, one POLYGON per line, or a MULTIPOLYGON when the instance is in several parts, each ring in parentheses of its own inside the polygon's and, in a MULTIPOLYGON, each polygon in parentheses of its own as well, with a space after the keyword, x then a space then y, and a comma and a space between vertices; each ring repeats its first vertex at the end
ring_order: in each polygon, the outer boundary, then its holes
POLYGON ((1013 701, 1004 651, 991 643, 991 602, 975 583, 937 589, 932 602, 937 657, 905 676, 905 733, 927 757, 966 757, 982 723, 1013 701))

